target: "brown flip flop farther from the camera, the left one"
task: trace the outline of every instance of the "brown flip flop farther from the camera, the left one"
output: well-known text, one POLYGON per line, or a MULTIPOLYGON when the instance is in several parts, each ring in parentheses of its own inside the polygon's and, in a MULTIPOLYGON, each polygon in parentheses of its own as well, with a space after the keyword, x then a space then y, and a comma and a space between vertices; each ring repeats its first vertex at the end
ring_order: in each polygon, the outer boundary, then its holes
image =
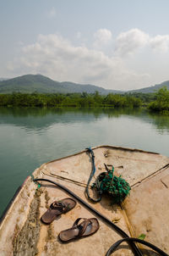
POLYGON ((52 223, 57 219, 57 216, 66 214, 69 210, 73 209, 76 201, 72 198, 64 198, 63 200, 54 201, 46 213, 41 216, 41 221, 45 224, 52 223))

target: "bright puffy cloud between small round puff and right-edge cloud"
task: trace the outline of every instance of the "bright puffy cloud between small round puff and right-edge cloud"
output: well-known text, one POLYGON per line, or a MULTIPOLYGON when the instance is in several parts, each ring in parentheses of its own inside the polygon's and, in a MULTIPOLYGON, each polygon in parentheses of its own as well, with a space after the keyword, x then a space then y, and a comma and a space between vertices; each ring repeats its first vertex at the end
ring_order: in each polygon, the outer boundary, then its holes
POLYGON ((132 29, 117 36, 116 52, 120 55, 134 53, 140 47, 144 47, 149 42, 149 35, 139 29, 132 29))

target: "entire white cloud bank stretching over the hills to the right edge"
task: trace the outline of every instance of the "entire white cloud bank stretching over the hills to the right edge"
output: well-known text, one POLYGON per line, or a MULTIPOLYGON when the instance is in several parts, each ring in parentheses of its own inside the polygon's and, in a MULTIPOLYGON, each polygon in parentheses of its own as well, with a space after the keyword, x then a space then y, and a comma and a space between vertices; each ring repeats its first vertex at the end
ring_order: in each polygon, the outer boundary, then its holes
MULTIPOLYGON (((81 40, 81 34, 77 36, 81 40)), ((92 83, 118 90, 137 89, 168 79, 169 35, 149 36, 133 29, 112 40, 112 32, 101 29, 95 32, 93 48, 89 43, 86 47, 78 42, 73 44, 54 34, 39 35, 36 42, 19 46, 20 57, 8 63, 8 72, 13 77, 40 73, 56 81, 92 83), (111 53, 107 50, 110 47, 111 53), (159 55, 161 52, 165 54, 159 55), (163 56, 162 65, 159 56, 163 56)))

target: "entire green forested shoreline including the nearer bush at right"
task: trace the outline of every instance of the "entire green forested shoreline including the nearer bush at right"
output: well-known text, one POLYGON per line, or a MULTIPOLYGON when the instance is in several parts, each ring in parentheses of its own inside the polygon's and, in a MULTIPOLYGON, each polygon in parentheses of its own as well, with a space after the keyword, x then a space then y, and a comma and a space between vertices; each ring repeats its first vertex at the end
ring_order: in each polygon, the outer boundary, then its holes
POLYGON ((7 107, 73 107, 73 108, 140 108, 169 114, 169 91, 162 87, 155 93, 101 95, 83 93, 20 93, 0 94, 0 106, 7 107))

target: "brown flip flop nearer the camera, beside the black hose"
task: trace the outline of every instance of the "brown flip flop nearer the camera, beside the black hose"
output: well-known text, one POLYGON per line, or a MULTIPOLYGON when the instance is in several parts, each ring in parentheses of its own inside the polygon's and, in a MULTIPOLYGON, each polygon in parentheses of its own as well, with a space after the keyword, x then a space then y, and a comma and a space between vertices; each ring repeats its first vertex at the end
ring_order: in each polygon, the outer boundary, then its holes
POLYGON ((88 237, 93 235, 99 229, 99 221, 95 218, 78 218, 74 225, 68 230, 61 231, 58 237, 62 242, 68 242, 72 239, 88 237), (79 220, 84 220, 79 223, 79 220))

